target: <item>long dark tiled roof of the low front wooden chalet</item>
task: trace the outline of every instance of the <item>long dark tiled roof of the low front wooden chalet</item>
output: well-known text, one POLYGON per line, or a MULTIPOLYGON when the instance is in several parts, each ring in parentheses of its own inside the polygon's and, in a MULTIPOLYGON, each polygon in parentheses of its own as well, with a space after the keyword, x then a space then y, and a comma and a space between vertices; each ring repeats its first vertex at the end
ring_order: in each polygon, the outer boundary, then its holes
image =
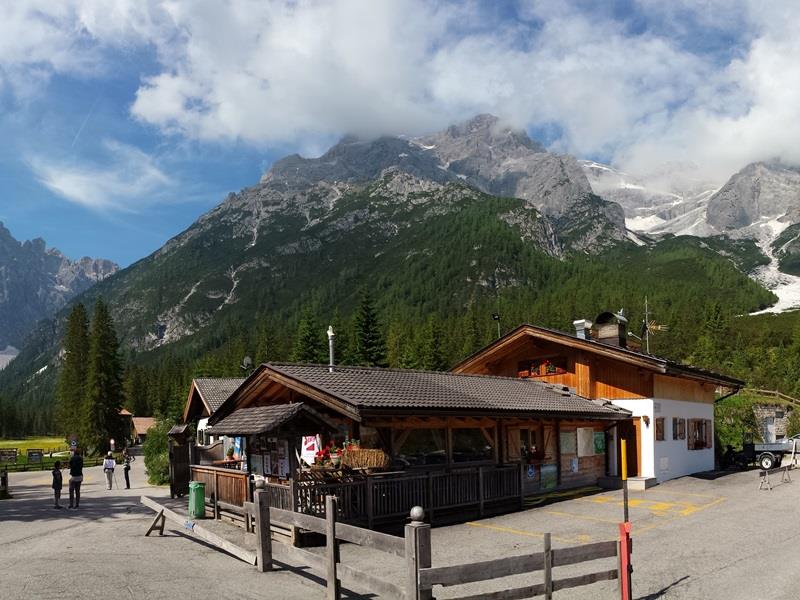
POLYGON ((265 365, 322 392, 367 409, 474 410, 625 418, 626 410, 588 400, 564 386, 532 379, 434 371, 324 365, 265 365))

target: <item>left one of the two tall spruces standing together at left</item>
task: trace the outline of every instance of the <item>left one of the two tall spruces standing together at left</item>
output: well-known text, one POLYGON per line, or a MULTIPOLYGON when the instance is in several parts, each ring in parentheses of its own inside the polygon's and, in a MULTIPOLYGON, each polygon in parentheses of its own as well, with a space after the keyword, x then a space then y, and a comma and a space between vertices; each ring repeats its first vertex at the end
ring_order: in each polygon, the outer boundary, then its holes
POLYGON ((83 427, 89 358, 89 317, 83 304, 76 304, 70 312, 62 346, 64 362, 56 386, 56 425, 67 438, 78 434, 83 427))

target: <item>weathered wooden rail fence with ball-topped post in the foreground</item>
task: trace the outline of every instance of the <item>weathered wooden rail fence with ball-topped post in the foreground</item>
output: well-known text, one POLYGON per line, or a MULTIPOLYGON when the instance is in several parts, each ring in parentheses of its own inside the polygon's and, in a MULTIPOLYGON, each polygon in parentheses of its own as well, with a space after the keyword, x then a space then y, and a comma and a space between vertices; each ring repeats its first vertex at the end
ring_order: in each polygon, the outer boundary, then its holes
POLYGON ((411 523, 405 525, 403 537, 388 535, 342 523, 337 519, 339 514, 337 498, 325 498, 326 518, 273 508, 270 506, 270 492, 267 489, 256 489, 253 502, 244 503, 244 516, 248 530, 256 535, 256 552, 240 549, 220 536, 207 531, 202 525, 186 521, 149 498, 142 498, 142 503, 157 511, 156 518, 147 533, 158 530, 163 534, 164 519, 182 523, 195 535, 217 545, 251 564, 260 571, 270 571, 273 559, 287 564, 300 564, 309 567, 322 576, 327 588, 329 600, 339 600, 341 585, 365 588, 381 597, 397 600, 430 600, 433 598, 433 587, 457 586, 478 581, 487 581, 529 574, 537 571, 543 573, 544 581, 514 589, 502 589, 494 592, 462 596, 459 600, 513 600, 544 596, 552 598, 554 592, 609 580, 619 580, 620 596, 630 600, 630 526, 620 525, 620 541, 597 542, 583 546, 553 549, 550 534, 545 534, 544 551, 535 554, 498 558, 487 561, 452 565, 445 567, 432 566, 431 529, 424 523, 424 512, 420 507, 410 511, 411 523), (251 525, 252 521, 252 527, 251 525), (325 552, 318 553, 295 548, 289 544, 273 543, 271 526, 274 522, 288 523, 293 527, 314 531, 325 536, 325 552), (339 543, 341 541, 357 544, 366 548, 388 553, 402 559, 405 563, 405 576, 401 583, 389 581, 356 566, 341 562, 339 543), (573 577, 554 578, 554 569, 568 565, 595 561, 605 558, 617 558, 613 569, 603 569, 573 577), (623 576, 627 574, 627 576, 623 576))

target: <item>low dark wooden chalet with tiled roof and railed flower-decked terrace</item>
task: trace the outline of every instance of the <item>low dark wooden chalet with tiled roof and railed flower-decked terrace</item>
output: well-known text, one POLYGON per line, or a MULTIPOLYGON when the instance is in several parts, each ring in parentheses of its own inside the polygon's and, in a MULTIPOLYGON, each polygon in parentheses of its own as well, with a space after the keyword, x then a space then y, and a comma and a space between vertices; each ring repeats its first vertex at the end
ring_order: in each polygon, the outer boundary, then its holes
MULTIPOLYGON (((335 494, 342 518, 370 526, 414 505, 429 515, 521 506, 527 494, 610 474, 609 435, 630 411, 512 375, 263 364, 209 418, 210 432, 246 438, 247 469, 268 480, 274 506, 318 513, 335 494), (302 464, 303 438, 316 435, 359 440, 385 462, 302 464)), ((207 494, 223 489, 221 471, 203 473, 207 494)))

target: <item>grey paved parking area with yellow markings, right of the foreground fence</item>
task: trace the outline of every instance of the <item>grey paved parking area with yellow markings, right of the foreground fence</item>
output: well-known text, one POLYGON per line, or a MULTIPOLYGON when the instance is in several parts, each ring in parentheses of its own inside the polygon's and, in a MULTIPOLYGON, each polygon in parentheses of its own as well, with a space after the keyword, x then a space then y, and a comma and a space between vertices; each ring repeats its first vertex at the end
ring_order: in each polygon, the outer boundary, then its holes
MULTIPOLYGON (((800 471, 794 483, 758 490, 756 471, 713 480, 684 477, 630 493, 634 598, 790 600, 800 597, 800 471)), ((540 552, 545 532, 554 547, 618 538, 622 492, 603 491, 522 512, 434 528, 434 565, 540 552)), ((352 546, 343 560, 400 577, 400 565, 352 546)), ((614 561, 563 567, 556 577, 613 568, 614 561)), ((436 591, 437 598, 509 589, 540 574, 436 591)), ((618 598, 616 582, 556 597, 618 598)))

